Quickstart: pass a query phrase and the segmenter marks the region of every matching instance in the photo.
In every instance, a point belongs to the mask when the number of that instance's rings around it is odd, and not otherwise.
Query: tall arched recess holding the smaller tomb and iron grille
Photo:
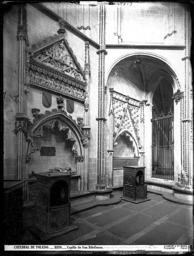
[[[165,87],[171,88],[170,91]],[[159,86],[159,87],[158,87]],[[154,104],[154,101],[157,103],[156,92],[161,93],[161,88],[164,87],[162,91],[163,96],[160,101],[160,107]],[[107,153],[109,154],[109,161],[107,162],[107,175],[108,182],[112,186],[122,185],[122,175],[119,176],[119,173],[112,172],[114,169],[113,159],[116,154],[116,145],[115,142],[115,130],[120,127],[120,121],[123,116],[123,109],[125,110],[125,104],[127,97],[139,102],[136,107],[139,105],[139,110],[136,111],[139,119],[138,125],[135,126],[135,129],[138,134],[137,140],[139,140],[138,151],[139,151],[139,166],[146,166],[145,169],[145,178],[147,180],[153,181],[152,174],[152,122],[153,119],[153,110],[152,106],[155,106],[156,117],[159,117],[160,114],[167,116],[168,112],[171,109],[171,120],[166,119],[166,124],[168,123],[168,128],[174,126],[175,133],[171,129],[171,135],[165,137],[166,140],[171,140],[171,155],[166,155],[166,157],[171,158],[172,169],[170,175],[158,176],[158,179],[161,180],[176,180],[178,172],[180,169],[180,106],[174,104],[173,95],[174,93],[181,88],[180,79],[177,78],[177,73],[175,73],[171,64],[168,63],[165,59],[158,55],[154,55],[148,52],[141,52],[140,54],[130,54],[130,56],[125,56],[119,61],[116,61],[116,64],[111,67],[110,73],[107,78],[107,116],[109,116],[107,124],[109,124],[109,137],[107,137],[107,144],[109,148]],[[155,93],[155,96],[154,96]],[[166,93],[166,94],[165,94]],[[154,96],[154,97],[153,97]],[[114,100],[119,97],[121,101],[121,110],[119,106],[114,106]],[[134,102],[133,102],[134,103]],[[164,108],[165,107],[165,108]],[[117,113],[118,112],[118,113]],[[135,114],[135,115],[136,115]],[[119,119],[118,124],[115,123],[115,119]],[[162,116],[162,117],[164,117]],[[160,116],[161,117],[161,116]],[[170,116],[168,116],[170,117]],[[132,119],[134,118],[134,113],[132,113]],[[162,119],[162,118],[161,118]],[[169,121],[170,120],[170,121]],[[170,133],[170,130],[168,131]],[[166,135],[165,135],[166,136]],[[174,143],[175,142],[175,143]],[[127,140],[126,140],[127,143]],[[127,143],[127,147],[130,145],[130,142]],[[167,144],[168,145],[168,144]],[[167,146],[164,145],[164,146]],[[126,147],[122,148],[126,151]],[[176,157],[173,156],[174,150],[176,151]],[[137,155],[136,155],[137,156]],[[164,159],[166,161],[166,159]],[[169,164],[168,164],[169,165]],[[105,166],[106,167],[106,166]],[[166,171],[167,173],[167,171]],[[120,179],[119,179],[120,177]],[[114,180],[116,180],[114,182]],[[160,183],[160,180],[154,181]],[[163,183],[163,181],[162,181]]]

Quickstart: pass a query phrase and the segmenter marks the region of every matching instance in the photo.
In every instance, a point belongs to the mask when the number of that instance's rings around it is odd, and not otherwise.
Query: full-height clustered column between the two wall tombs
[[[99,44],[98,57],[98,148],[97,148],[97,184],[96,189],[106,189],[104,184],[104,158],[105,158],[105,86],[104,86],[104,58],[105,50],[105,10],[104,5],[99,6]]]

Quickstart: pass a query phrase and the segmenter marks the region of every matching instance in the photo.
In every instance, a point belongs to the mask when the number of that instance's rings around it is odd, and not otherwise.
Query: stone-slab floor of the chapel
[[[173,204],[151,193],[148,198],[151,200],[140,204],[122,200],[72,215],[71,222],[78,230],[44,244],[193,244],[193,207]],[[17,244],[43,243],[26,230]]]

